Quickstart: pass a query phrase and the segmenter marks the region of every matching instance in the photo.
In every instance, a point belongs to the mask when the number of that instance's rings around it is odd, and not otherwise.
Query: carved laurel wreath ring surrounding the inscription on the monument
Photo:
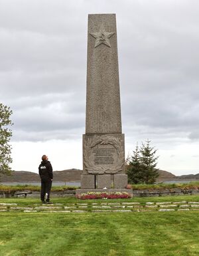
[[[97,144],[107,145],[111,144],[117,151],[117,162],[111,168],[94,165],[94,156],[92,154],[92,148]],[[123,167],[123,156],[124,151],[122,150],[122,141],[120,138],[115,138],[112,136],[94,136],[88,137],[86,143],[84,144],[84,164],[86,166],[85,170],[89,174],[117,174],[117,172],[122,170]]]

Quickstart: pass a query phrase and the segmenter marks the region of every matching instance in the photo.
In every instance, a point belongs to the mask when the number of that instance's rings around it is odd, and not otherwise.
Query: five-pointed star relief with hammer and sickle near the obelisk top
[[[96,33],[90,33],[93,37],[96,39],[95,47],[98,47],[98,45],[104,44],[107,45],[108,47],[111,47],[109,38],[114,35],[115,33],[113,32],[106,32],[103,24],[101,24],[100,31]]]

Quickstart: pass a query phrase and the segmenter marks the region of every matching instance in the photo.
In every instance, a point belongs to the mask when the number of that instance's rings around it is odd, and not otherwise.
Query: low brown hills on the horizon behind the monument
[[[159,178],[157,182],[172,180],[199,180],[199,174],[188,174],[175,176],[170,172],[159,170]],[[63,171],[54,171],[54,182],[80,182],[82,170],[70,169]],[[40,182],[40,177],[34,172],[11,172],[11,176],[0,175],[0,182]]]

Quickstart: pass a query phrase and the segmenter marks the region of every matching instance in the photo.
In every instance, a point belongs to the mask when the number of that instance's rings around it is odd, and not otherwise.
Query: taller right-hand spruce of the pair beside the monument
[[[140,164],[142,166],[143,181],[146,184],[153,184],[159,177],[157,166],[157,159],[159,156],[155,156],[157,150],[150,146],[150,140],[147,140],[146,144],[142,144],[140,152]]]

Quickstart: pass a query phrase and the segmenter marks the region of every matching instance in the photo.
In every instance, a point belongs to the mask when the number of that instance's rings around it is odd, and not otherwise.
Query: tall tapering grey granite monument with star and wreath
[[[81,188],[125,188],[124,164],[115,14],[88,15],[86,134],[83,135]]]

